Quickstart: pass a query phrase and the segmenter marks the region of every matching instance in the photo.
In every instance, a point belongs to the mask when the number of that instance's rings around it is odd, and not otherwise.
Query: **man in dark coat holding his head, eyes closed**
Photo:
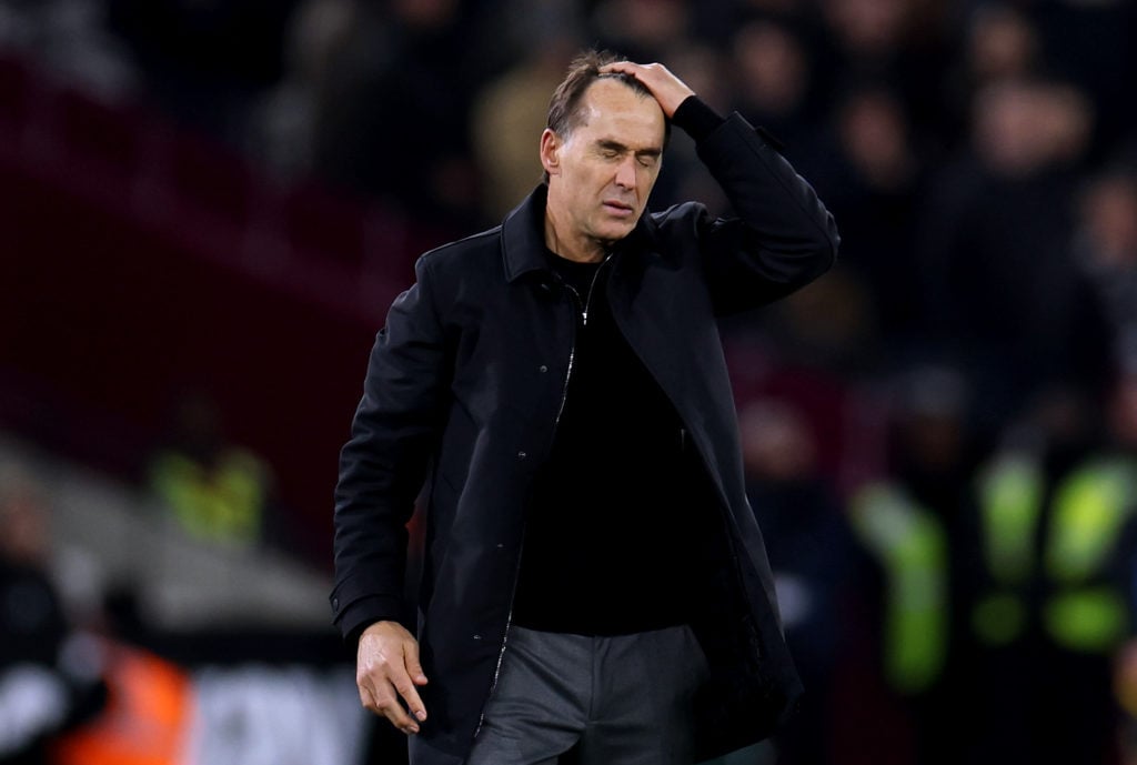
[[[644,215],[672,122],[737,218]],[[658,64],[580,57],[540,158],[500,226],[418,259],[379,333],[340,458],[335,623],[415,765],[694,763],[799,695],[716,318],[823,273],[837,231],[767,141]],[[424,481],[416,641],[399,616]]]

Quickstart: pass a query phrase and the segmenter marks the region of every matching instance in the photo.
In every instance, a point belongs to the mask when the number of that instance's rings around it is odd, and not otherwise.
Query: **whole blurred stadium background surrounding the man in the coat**
[[[1135,42],[1124,0],[0,0],[0,763],[405,762],[330,625],[337,454],[586,45],[766,127],[844,238],[723,325],[812,691],[731,762],[1137,762]],[[652,207],[692,197],[677,135]]]

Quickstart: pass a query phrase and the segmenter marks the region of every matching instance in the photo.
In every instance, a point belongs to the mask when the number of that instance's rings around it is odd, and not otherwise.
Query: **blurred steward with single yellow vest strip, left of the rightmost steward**
[[[963,670],[954,540],[978,451],[970,391],[957,369],[926,363],[901,373],[890,398],[886,473],[847,500],[860,551],[854,655],[870,672],[843,715],[843,754],[954,765]]]

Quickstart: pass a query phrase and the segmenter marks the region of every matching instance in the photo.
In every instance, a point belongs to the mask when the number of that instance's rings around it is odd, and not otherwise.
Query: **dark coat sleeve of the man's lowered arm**
[[[428,257],[391,306],[371,351],[335,487],[334,624],[354,640],[373,622],[404,614],[407,523],[442,419],[447,363],[431,297]]]

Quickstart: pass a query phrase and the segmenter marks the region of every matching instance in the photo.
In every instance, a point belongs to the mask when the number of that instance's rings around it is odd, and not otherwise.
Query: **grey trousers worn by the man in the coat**
[[[707,672],[689,627],[584,637],[511,627],[467,765],[692,765]]]

